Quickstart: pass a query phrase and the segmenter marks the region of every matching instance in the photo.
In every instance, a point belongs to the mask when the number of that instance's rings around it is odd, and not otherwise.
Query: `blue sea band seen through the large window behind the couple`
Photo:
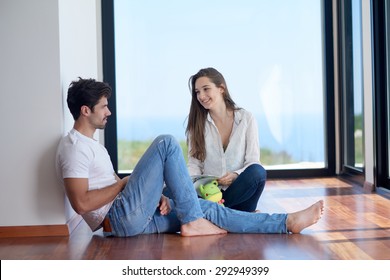
[[[260,148],[287,152],[296,161],[323,162],[325,155],[323,117],[294,115],[283,120],[286,128],[271,129],[264,115],[255,116],[259,127]],[[118,118],[118,140],[150,141],[170,134],[178,141],[185,137],[186,117]]]

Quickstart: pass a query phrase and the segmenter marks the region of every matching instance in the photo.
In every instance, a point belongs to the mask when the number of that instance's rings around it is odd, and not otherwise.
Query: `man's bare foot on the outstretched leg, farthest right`
[[[319,200],[310,207],[288,214],[287,230],[292,233],[300,233],[303,229],[317,223],[324,212],[324,201]]]

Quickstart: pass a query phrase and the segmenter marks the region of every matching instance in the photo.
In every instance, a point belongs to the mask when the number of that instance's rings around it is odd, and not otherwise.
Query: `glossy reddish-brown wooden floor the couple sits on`
[[[292,212],[319,199],[325,213],[301,234],[105,238],[82,222],[69,238],[0,238],[0,259],[389,260],[390,200],[337,178],[270,180],[262,212]]]

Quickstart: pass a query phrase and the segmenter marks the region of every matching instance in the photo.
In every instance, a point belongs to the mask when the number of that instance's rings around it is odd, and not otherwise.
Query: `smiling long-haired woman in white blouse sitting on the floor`
[[[190,175],[215,175],[227,207],[253,212],[263,192],[256,120],[238,108],[224,77],[205,68],[189,79],[192,94],[188,125]]]

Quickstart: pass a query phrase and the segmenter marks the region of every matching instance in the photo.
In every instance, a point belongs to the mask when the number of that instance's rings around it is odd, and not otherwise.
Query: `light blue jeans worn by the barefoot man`
[[[157,208],[164,183],[172,195],[172,211],[165,216]],[[202,217],[228,232],[287,232],[287,214],[242,212],[199,199],[180,145],[169,135],[154,140],[107,216],[114,236],[179,232],[182,224]]]

